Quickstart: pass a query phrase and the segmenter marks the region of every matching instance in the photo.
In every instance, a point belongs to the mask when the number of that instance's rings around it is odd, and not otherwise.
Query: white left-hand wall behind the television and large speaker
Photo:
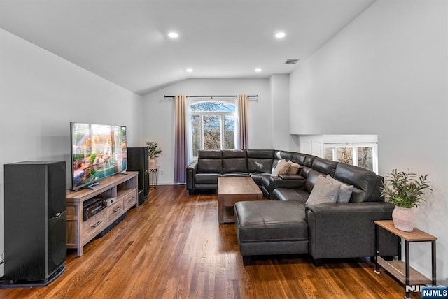
[[[0,29],[0,253],[3,165],[63,160],[70,187],[71,121],[125,125],[141,143],[141,96]]]

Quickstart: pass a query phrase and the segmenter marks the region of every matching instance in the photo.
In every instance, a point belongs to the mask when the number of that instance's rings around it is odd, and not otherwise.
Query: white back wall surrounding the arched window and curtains
[[[276,147],[273,134],[276,135],[276,138],[286,140],[283,143],[284,146],[288,145],[288,138],[291,139],[288,127],[284,129],[283,124],[281,124],[277,128],[273,124],[273,105],[276,101],[279,101],[276,105],[277,112],[288,110],[287,94],[285,95],[282,89],[284,87],[288,92],[287,77],[287,75],[279,76],[275,79],[275,82],[270,82],[269,78],[189,79],[144,96],[144,140],[157,141],[163,151],[158,158],[158,166],[160,167],[158,182],[160,184],[172,184],[174,176],[174,102],[165,100],[165,95],[258,94],[258,101],[249,101],[249,147],[253,149],[272,149]],[[272,86],[279,91],[278,96],[277,92],[272,92]],[[278,117],[278,113],[276,117]]]

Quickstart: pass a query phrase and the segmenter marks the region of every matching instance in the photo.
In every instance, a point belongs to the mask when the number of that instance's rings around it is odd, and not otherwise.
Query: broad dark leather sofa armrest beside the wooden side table
[[[392,219],[393,204],[384,202],[307,205],[309,254],[314,259],[375,256],[374,220]],[[398,255],[398,238],[379,232],[383,256]]]

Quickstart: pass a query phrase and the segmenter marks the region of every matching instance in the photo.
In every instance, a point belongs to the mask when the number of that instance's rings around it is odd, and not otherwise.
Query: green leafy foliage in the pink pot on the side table
[[[380,188],[381,194],[386,197],[389,203],[398,207],[418,207],[421,201],[425,201],[423,196],[426,190],[430,189],[428,175],[417,177],[415,173],[392,170],[387,176],[386,182]]]

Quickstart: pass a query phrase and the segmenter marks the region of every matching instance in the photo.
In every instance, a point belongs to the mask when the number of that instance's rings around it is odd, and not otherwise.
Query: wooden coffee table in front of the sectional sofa
[[[218,177],[218,220],[235,222],[233,205],[238,201],[262,200],[263,194],[251,177]]]

